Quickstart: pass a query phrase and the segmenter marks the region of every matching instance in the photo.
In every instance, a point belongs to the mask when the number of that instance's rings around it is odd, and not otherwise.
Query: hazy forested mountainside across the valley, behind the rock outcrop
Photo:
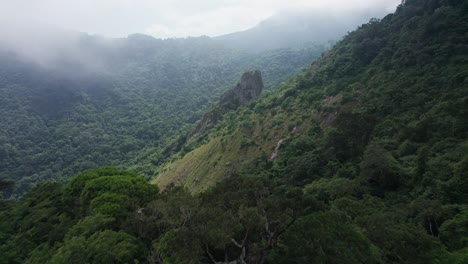
[[[209,38],[143,35],[84,35],[73,45],[83,62],[74,62],[77,52],[67,49],[62,61],[45,67],[0,53],[0,179],[16,181],[16,194],[104,165],[152,177],[170,154],[165,147],[183,138],[245,70],[262,69],[272,87],[325,49],[252,55]]]

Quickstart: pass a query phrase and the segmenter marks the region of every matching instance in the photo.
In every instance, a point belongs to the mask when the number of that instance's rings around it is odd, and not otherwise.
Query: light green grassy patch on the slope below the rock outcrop
[[[257,104],[279,101],[294,85],[295,79],[283,83],[276,91],[263,94]],[[311,119],[318,117],[311,109],[297,116],[304,109],[295,105],[288,105],[287,109],[269,106],[268,111],[253,108],[255,103],[228,113],[209,135],[195,135],[188,145],[206,143],[165,164],[153,182],[162,188],[170,183],[183,184],[193,192],[201,192],[247,167],[245,163],[251,160],[270,159],[280,140],[307,131]]]

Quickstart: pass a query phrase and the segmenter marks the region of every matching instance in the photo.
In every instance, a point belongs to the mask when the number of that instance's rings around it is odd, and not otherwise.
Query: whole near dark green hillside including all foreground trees
[[[1,261],[467,263],[466,32],[468,2],[407,0],[181,140],[162,192],[103,168],[3,201]]]

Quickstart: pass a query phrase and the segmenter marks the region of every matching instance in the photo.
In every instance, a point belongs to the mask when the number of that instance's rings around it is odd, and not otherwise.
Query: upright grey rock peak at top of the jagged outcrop
[[[221,96],[219,105],[224,111],[233,110],[257,98],[262,93],[263,88],[262,73],[260,71],[245,72],[236,87]]]

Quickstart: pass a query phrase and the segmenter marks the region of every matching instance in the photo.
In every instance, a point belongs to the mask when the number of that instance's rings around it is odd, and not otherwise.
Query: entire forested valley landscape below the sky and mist
[[[467,21],[405,0],[333,45],[2,53],[0,263],[467,263]]]

